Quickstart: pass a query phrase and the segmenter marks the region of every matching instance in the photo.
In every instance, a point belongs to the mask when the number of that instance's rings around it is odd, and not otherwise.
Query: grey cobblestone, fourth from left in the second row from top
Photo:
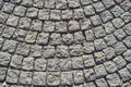
[[[41,21],[49,20],[49,9],[38,10],[38,18]]]

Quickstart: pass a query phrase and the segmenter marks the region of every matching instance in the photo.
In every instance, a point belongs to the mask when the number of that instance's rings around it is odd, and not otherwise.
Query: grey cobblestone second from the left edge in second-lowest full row
[[[10,65],[12,66],[12,67],[15,67],[15,69],[21,69],[21,66],[22,66],[22,61],[23,61],[23,57],[22,55],[16,55],[16,54],[14,54],[13,57],[12,57],[12,59],[11,59],[11,63],[10,63]]]

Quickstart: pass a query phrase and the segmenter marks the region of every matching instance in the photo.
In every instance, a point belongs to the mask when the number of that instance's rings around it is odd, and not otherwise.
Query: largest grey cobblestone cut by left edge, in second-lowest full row
[[[0,65],[8,66],[11,60],[11,54],[7,52],[0,52]]]

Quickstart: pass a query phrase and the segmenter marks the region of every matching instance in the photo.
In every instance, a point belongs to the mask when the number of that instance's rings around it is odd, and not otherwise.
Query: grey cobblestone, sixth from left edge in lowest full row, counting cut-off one
[[[61,72],[61,85],[72,85],[72,73],[71,72]]]

